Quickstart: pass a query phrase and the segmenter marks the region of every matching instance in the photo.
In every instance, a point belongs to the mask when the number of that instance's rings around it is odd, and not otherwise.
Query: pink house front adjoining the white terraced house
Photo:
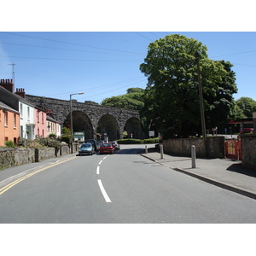
[[[47,137],[46,111],[41,108],[34,108],[34,122],[36,137]]]

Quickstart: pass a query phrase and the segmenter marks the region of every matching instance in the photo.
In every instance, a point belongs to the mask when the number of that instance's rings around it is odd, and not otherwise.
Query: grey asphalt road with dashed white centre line
[[[0,223],[255,223],[256,201],[160,166],[144,146],[76,156],[0,194]]]

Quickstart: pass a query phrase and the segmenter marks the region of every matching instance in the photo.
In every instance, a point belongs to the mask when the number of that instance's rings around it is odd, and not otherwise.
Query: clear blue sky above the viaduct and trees
[[[26,94],[102,102],[131,87],[145,88],[139,70],[148,44],[179,33],[205,44],[212,60],[230,61],[238,93],[256,100],[256,32],[0,32],[0,78]]]

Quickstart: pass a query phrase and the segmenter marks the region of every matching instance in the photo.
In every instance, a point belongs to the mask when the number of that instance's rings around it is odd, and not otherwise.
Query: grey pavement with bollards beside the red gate
[[[192,168],[190,157],[163,154],[161,158],[157,152],[141,155],[177,172],[256,199],[256,170],[241,166],[241,160],[197,158]]]

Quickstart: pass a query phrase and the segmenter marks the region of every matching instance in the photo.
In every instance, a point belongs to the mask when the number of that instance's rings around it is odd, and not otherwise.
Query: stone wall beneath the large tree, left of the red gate
[[[164,153],[166,154],[191,156],[193,145],[198,157],[224,157],[224,137],[207,137],[207,152],[204,148],[203,138],[179,138],[163,141]]]

